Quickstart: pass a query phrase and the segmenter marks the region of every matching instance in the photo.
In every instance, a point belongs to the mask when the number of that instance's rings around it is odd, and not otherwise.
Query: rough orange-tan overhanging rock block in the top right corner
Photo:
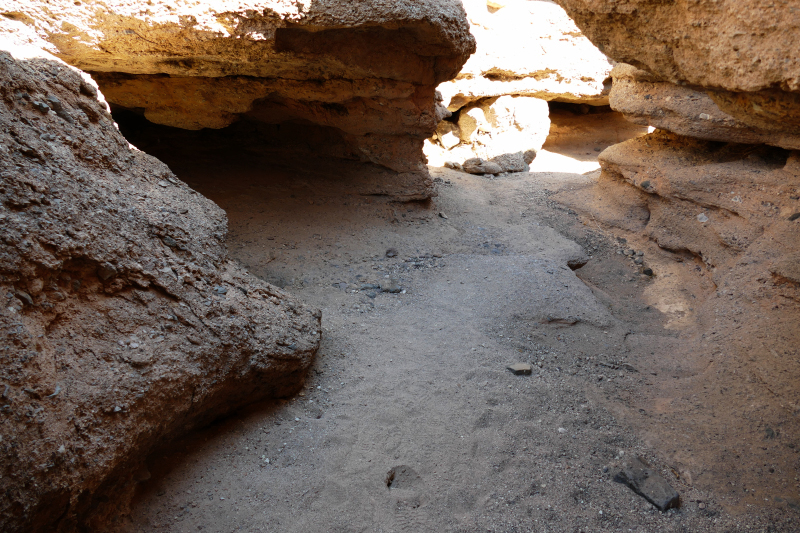
[[[744,124],[800,134],[800,9],[765,0],[557,0],[609,57],[704,89]]]

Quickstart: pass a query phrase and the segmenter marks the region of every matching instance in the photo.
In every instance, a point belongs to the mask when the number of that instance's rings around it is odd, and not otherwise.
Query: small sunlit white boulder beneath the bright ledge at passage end
[[[517,153],[528,154],[526,162],[530,163],[547,139],[549,113],[547,102],[539,98],[501,96],[480,100],[442,121],[433,139],[426,143],[425,153],[432,164],[475,157],[511,157]]]

